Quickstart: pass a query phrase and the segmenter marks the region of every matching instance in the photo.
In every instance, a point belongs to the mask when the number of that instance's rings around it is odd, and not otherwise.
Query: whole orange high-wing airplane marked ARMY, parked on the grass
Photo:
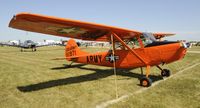
[[[150,67],[158,67],[163,77],[170,76],[170,70],[162,69],[159,65],[182,59],[187,48],[183,42],[158,41],[174,35],[170,33],[145,33],[30,13],[15,15],[9,27],[88,41],[111,42],[111,50],[90,54],[80,50],[76,42],[70,39],[65,47],[65,59],[114,68],[146,67],[146,74],[140,79],[140,85],[144,87],[152,84]]]

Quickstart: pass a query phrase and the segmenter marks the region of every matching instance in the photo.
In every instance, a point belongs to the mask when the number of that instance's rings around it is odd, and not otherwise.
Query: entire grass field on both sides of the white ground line
[[[64,57],[64,47],[42,47],[37,52],[0,47],[0,57],[0,108],[94,108],[115,99],[112,68],[83,64],[65,68],[63,64],[70,62],[51,60]],[[175,74],[199,61],[200,54],[188,53],[183,60],[164,67]],[[197,66],[109,107],[200,107],[199,70]],[[119,96],[143,88],[138,85],[139,69],[117,70],[117,73]],[[155,82],[162,80],[157,68],[151,69],[150,77]]]

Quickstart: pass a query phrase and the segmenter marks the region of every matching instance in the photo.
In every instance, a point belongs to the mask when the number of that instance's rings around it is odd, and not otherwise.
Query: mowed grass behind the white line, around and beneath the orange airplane
[[[107,48],[82,48],[88,52],[105,51]],[[112,68],[69,64],[64,57],[64,47],[41,47],[38,51],[20,52],[19,48],[0,47],[0,107],[7,108],[92,108],[115,98]],[[195,54],[188,54],[182,61],[165,65],[173,73],[197,62]],[[117,70],[119,96],[141,89],[138,86],[140,69]],[[151,78],[162,80],[157,68],[151,69]]]

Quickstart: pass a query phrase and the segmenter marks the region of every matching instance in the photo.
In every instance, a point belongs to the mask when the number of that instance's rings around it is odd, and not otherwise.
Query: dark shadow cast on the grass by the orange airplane
[[[104,70],[104,69],[81,67],[83,65],[84,64],[78,64],[73,67],[84,69],[84,70],[92,70],[95,72],[91,73],[91,74],[87,74],[87,75],[50,80],[50,81],[40,82],[37,84],[31,84],[31,85],[27,85],[27,86],[18,86],[17,89],[20,90],[21,92],[38,91],[38,90],[47,89],[47,88],[56,87],[56,86],[98,80],[98,79],[106,78],[108,76],[113,75],[113,69],[105,69]],[[66,69],[66,68],[68,68],[68,67],[64,66],[64,67],[56,67],[56,68],[52,68],[52,69],[55,70],[55,69]],[[117,70],[117,75],[128,76],[130,78],[138,78],[138,79],[142,77],[141,74],[132,73],[132,72],[130,72],[129,69],[124,69],[123,71],[120,71],[120,70],[121,69]],[[126,72],[124,72],[124,71],[126,71]],[[155,75],[149,75],[149,77],[153,80],[153,82],[163,79],[161,76],[155,76]]]

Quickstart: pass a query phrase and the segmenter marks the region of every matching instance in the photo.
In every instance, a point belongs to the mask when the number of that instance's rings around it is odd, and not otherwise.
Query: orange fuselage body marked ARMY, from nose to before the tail
[[[183,48],[179,42],[152,47],[137,48],[134,49],[134,51],[151,66],[179,60],[186,54],[186,48]],[[146,66],[146,64],[144,64],[129,50],[115,50],[115,55],[112,55],[112,52],[108,51],[87,54],[73,59],[73,61],[78,63],[94,64],[108,67],[113,67],[114,60],[116,61],[115,63],[117,68],[136,68]]]

